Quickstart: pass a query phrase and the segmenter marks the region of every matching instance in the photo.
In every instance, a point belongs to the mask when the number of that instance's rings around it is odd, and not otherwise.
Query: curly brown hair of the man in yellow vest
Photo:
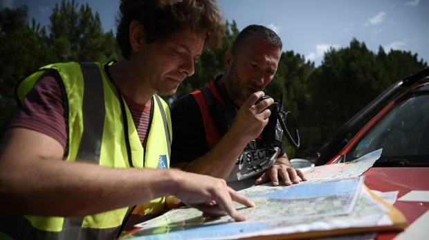
[[[182,30],[206,34],[204,49],[221,46],[225,22],[216,0],[122,0],[116,41],[125,59],[131,55],[129,25],[144,26],[145,41],[168,39]]]

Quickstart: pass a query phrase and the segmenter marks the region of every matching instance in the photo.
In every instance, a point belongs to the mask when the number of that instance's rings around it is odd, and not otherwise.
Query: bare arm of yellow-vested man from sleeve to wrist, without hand
[[[60,143],[33,130],[6,133],[0,155],[0,212],[78,216],[169,195],[170,172],[116,169],[62,159]],[[151,188],[156,186],[156,188]]]

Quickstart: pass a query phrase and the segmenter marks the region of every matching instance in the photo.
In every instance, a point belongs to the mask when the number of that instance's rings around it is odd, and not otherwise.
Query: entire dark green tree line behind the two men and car
[[[74,0],[55,5],[51,25],[39,26],[28,19],[28,8],[0,10],[0,127],[17,111],[14,87],[19,79],[48,63],[59,61],[108,61],[118,59],[113,32],[103,32],[98,12],[88,3]],[[203,52],[195,73],[183,81],[174,96],[162,96],[170,105],[183,94],[205,86],[215,74],[223,73],[224,53],[239,33],[235,21],[226,22],[222,47]],[[285,141],[289,158],[316,159],[316,151],[344,123],[375,99],[392,83],[427,68],[417,54],[401,50],[368,50],[352,39],[349,46],[330,49],[320,66],[293,51],[282,52],[277,73],[265,92],[293,112],[300,126],[301,148]],[[0,132],[2,135],[2,131]],[[286,138],[285,138],[286,140]]]

